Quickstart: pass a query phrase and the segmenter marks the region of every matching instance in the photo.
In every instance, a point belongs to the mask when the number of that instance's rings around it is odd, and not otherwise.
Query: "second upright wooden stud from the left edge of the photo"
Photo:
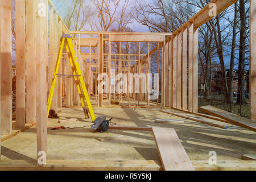
[[[25,45],[25,0],[15,0],[16,38],[16,128],[22,129],[26,123],[26,45]]]

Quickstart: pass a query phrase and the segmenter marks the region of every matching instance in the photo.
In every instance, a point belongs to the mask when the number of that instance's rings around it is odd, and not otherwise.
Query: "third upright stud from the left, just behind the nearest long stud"
[[[26,61],[27,61],[27,97],[26,123],[36,122],[36,64],[35,64],[35,1],[26,1]]]

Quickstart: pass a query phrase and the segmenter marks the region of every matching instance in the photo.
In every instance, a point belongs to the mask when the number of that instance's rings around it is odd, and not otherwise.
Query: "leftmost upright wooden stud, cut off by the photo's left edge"
[[[10,134],[12,127],[12,41],[11,41],[11,1],[0,1],[1,17],[1,134]]]

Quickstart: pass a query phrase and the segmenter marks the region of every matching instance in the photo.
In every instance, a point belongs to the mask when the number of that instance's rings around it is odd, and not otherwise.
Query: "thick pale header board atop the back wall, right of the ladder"
[[[111,42],[164,42],[164,35],[110,35]]]

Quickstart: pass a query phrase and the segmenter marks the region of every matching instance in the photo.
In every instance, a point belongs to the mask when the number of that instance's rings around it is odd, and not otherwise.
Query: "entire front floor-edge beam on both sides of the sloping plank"
[[[225,160],[210,165],[208,160],[192,160],[196,171],[254,171],[255,161]],[[24,160],[0,160],[0,171],[163,171],[156,160],[48,160],[46,166]]]

